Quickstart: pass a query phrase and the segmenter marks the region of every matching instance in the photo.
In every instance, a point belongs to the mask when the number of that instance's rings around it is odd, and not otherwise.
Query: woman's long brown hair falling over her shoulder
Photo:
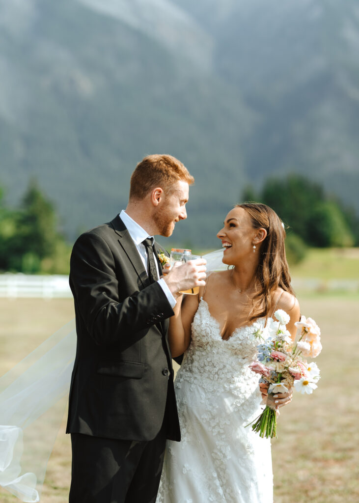
[[[249,214],[254,229],[263,228],[267,231],[259,248],[259,265],[255,280],[260,285],[260,291],[253,298],[253,307],[249,314],[251,321],[268,316],[272,294],[278,287],[294,295],[284,245],[286,231],[277,213],[265,204],[243,203],[237,204],[236,208],[243,208]]]

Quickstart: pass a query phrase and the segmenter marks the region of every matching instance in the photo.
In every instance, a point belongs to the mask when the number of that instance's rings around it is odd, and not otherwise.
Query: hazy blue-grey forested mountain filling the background
[[[0,0],[0,184],[73,240],[144,155],[195,176],[173,242],[216,247],[248,183],[297,172],[359,211],[355,0]]]

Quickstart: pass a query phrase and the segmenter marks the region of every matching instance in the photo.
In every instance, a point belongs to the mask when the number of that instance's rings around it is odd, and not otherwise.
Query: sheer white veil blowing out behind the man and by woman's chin
[[[207,272],[227,269],[223,249],[203,258]],[[40,501],[68,398],[75,351],[73,319],[0,378],[0,485],[21,501]]]

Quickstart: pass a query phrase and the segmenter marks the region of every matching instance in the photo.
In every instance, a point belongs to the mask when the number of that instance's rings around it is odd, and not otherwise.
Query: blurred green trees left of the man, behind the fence
[[[6,206],[0,188],[0,271],[66,274],[69,254],[54,206],[35,181],[18,208]]]

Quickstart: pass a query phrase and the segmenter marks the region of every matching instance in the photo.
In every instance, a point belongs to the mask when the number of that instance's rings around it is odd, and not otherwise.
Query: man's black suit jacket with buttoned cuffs
[[[149,283],[119,216],[80,235],[69,281],[77,349],[66,432],[152,440],[167,397],[167,438],[180,440],[167,339],[173,310],[161,287]]]

